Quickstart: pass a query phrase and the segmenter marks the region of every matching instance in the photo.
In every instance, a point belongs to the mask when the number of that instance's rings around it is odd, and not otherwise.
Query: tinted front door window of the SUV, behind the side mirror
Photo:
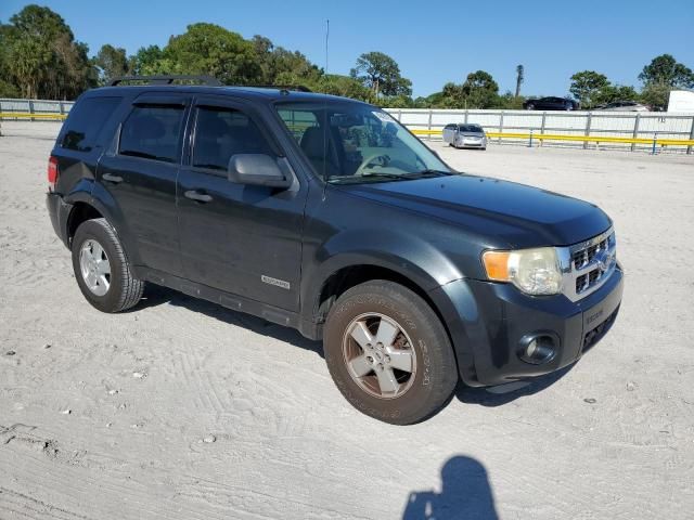
[[[267,140],[245,114],[226,108],[198,108],[193,166],[227,171],[236,154],[274,155]]]

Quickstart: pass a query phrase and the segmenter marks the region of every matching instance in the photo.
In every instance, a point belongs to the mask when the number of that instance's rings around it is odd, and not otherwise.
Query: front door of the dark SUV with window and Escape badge
[[[265,128],[248,104],[196,100],[178,182],[181,256],[191,281],[296,311],[306,180],[280,191],[227,176],[232,155],[283,155]]]

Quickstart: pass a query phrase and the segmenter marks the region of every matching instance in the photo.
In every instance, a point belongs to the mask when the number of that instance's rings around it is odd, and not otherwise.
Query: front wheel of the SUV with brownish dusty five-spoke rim
[[[393,425],[433,416],[458,382],[453,349],[438,316],[416,294],[388,281],[367,282],[337,299],[323,350],[345,399]]]

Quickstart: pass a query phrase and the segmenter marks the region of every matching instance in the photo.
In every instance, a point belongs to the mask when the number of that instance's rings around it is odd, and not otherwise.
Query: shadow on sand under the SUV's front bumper
[[[575,365],[576,363],[573,363],[544,376],[535,377],[526,381],[509,382],[498,387],[472,388],[459,382],[455,388],[455,396],[459,401],[467,404],[480,404],[489,407],[502,406],[516,399],[532,395],[551,387],[568,374]]]

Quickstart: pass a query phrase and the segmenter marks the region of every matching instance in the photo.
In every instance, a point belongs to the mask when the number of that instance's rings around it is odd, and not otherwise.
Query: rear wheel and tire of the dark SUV
[[[106,219],[80,224],[72,249],[75,278],[94,308],[120,312],[140,301],[144,282],[132,276],[118,236]]]

